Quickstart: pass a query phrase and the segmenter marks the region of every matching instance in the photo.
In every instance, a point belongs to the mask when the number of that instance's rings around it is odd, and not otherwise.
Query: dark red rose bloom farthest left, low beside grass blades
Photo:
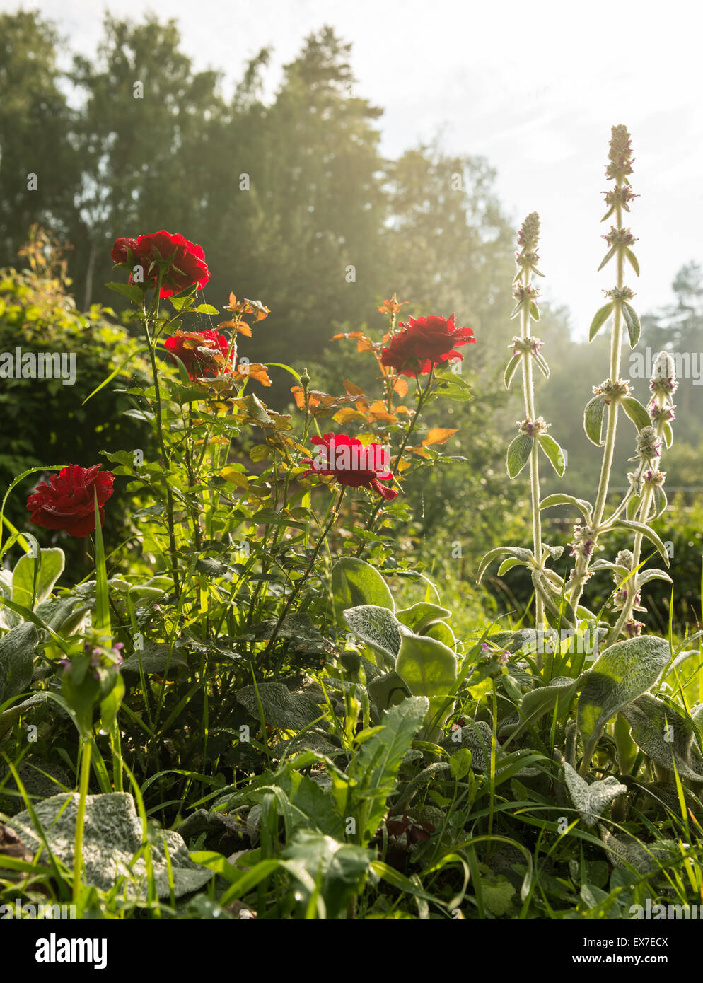
[[[95,503],[93,489],[97,492],[100,525],[105,521],[104,504],[112,494],[113,475],[101,471],[101,465],[82,468],[69,464],[56,475],[51,475],[48,485],[41,482],[27,499],[31,521],[44,529],[64,529],[70,536],[89,536],[95,531]]]

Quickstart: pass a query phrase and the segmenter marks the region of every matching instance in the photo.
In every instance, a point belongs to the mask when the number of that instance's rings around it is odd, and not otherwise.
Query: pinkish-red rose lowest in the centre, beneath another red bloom
[[[322,434],[311,437],[317,445],[315,458],[307,457],[303,464],[311,468],[300,477],[308,475],[334,475],[340,485],[349,488],[365,488],[379,492],[390,501],[398,492],[384,488],[381,481],[392,479],[385,459],[385,451],[380,443],[368,443],[366,446],[356,437],[347,434]]]

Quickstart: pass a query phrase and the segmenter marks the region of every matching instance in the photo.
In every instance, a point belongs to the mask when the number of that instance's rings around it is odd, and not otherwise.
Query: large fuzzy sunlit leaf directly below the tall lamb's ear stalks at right
[[[578,728],[587,756],[606,723],[654,685],[670,657],[669,643],[651,635],[617,642],[599,656],[585,674],[578,699]]]

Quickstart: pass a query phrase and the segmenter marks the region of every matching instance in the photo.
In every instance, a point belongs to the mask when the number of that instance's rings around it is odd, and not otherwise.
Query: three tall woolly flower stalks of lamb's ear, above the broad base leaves
[[[533,212],[525,219],[518,234],[518,244],[522,249],[517,254],[518,272],[514,283],[514,296],[517,303],[513,310],[513,317],[520,315],[521,331],[520,336],[513,337],[511,341],[513,355],[505,370],[505,384],[509,386],[518,367],[522,365],[526,419],[519,425],[520,432],[508,447],[507,471],[510,478],[515,478],[529,462],[533,510],[532,550],[522,547],[493,549],[484,556],[478,573],[480,580],[489,563],[501,555],[507,558],[503,560],[498,575],[515,565],[527,566],[531,570],[535,587],[535,625],[538,632],[543,629],[545,619],[553,626],[565,626],[568,629],[576,629],[586,619],[592,624],[596,637],[600,637],[604,630],[600,628],[599,631],[600,619],[588,607],[582,606],[581,599],[584,587],[595,570],[612,569],[617,577],[616,600],[620,602],[620,614],[610,631],[609,644],[617,641],[620,635],[631,636],[641,628],[639,622],[631,617],[633,609],[641,609],[637,607],[639,586],[654,577],[668,577],[664,571],[648,571],[639,579],[637,573],[633,573],[634,567],[640,563],[643,539],[647,538],[660,551],[665,562],[669,563],[664,544],[649,523],[661,515],[666,507],[666,497],[662,490],[664,475],[659,471],[657,462],[663,441],[666,440],[667,444],[670,444],[672,439],[671,395],[675,388],[672,360],[664,353],[657,360],[649,409],[632,396],[631,386],[619,375],[623,327],[627,329],[631,347],[637,344],[640,334],[640,321],[630,303],[634,294],[624,282],[626,265],[639,274],[639,265],[632,252],[635,238],[630,229],[622,225],[623,212],[629,211],[629,204],[636,197],[628,183],[631,173],[630,136],[625,127],[616,126],[613,128],[609,163],[606,168],[606,175],[610,181],[615,182],[615,187],[605,192],[608,210],[603,217],[605,221],[615,216],[615,225],[604,236],[609,249],[599,267],[602,269],[611,260],[615,260],[615,286],[606,291],[607,303],[596,312],[590,330],[590,340],[593,340],[610,319],[613,321],[610,376],[594,386],[593,398],[589,400],[584,411],[586,436],[593,443],[603,447],[595,502],[565,493],[552,494],[540,500],[538,447],[542,447],[559,475],[563,474],[564,461],[557,442],[546,433],[550,425],[546,424],[542,417],[535,415],[533,363],[548,377],[549,368],[540,353],[540,339],[532,336],[530,331],[531,319],[539,318],[536,304],[537,290],[532,286],[531,276],[533,273],[542,275],[536,268],[539,218]],[[639,467],[628,476],[630,488],[623,500],[610,516],[606,516],[620,406],[637,432],[636,459],[639,461]],[[540,513],[546,508],[557,505],[569,505],[581,515],[581,520],[574,527],[573,540],[570,543],[570,555],[574,557],[573,568],[565,580],[547,567],[549,559],[557,559],[562,548],[545,546],[542,542]],[[633,562],[633,565],[625,567],[622,562],[613,564],[604,560],[594,561],[596,551],[602,549],[600,541],[603,535],[616,529],[628,529],[635,535],[632,560],[634,561],[636,557],[636,562]],[[630,584],[631,590],[628,596],[624,581],[626,579],[629,583],[631,578],[634,579],[634,583]],[[541,665],[539,654],[538,665]]]

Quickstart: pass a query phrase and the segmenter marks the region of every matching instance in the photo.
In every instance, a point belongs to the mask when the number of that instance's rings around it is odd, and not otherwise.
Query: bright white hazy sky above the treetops
[[[517,225],[528,211],[543,224],[546,298],[567,304],[581,336],[614,271],[606,252],[600,192],[611,126],[633,137],[629,216],[639,238],[640,313],[667,304],[679,266],[703,262],[701,28],[696,0],[0,0],[38,8],[70,46],[94,51],[102,12],[153,11],[181,24],[198,68],[230,82],[271,46],[268,91],[314,29],[330,24],[351,41],[358,94],[380,105],[382,149],[396,154],[441,132],[447,149],[485,155]]]

